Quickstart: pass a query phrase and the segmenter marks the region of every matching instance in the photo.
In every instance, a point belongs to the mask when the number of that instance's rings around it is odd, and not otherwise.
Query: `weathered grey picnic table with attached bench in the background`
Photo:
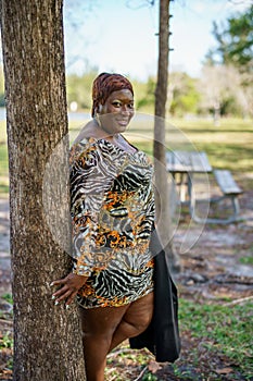
[[[238,186],[230,171],[214,170],[205,152],[198,151],[167,151],[166,169],[174,177],[174,184],[179,188],[179,199],[181,204],[189,206],[190,216],[197,222],[223,223],[242,220],[238,196],[242,189]],[[198,197],[193,192],[193,179],[197,173],[213,174],[223,194],[219,197],[208,198],[208,202],[219,202],[229,199],[232,213],[227,218],[201,218],[197,216],[195,202]]]

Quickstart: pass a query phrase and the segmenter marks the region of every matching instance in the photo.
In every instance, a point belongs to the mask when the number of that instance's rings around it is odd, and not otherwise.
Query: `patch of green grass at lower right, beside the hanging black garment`
[[[198,305],[180,299],[180,331],[190,332],[208,351],[226,355],[246,380],[253,377],[253,303]]]

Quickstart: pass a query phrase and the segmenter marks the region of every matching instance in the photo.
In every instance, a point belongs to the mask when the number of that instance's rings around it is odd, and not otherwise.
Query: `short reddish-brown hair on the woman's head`
[[[92,87],[92,109],[91,115],[96,116],[99,105],[104,105],[105,100],[113,91],[128,89],[134,95],[131,83],[122,74],[101,73],[93,81]]]

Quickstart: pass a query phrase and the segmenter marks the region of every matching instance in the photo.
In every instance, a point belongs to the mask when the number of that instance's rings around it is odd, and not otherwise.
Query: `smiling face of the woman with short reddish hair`
[[[99,114],[102,128],[109,134],[123,133],[135,114],[134,96],[130,90],[113,91]]]

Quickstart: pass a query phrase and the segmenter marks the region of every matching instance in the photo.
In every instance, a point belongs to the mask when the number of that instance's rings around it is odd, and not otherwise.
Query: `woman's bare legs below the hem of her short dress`
[[[143,332],[153,315],[153,293],[123,307],[80,308],[87,381],[103,381],[106,355]]]

